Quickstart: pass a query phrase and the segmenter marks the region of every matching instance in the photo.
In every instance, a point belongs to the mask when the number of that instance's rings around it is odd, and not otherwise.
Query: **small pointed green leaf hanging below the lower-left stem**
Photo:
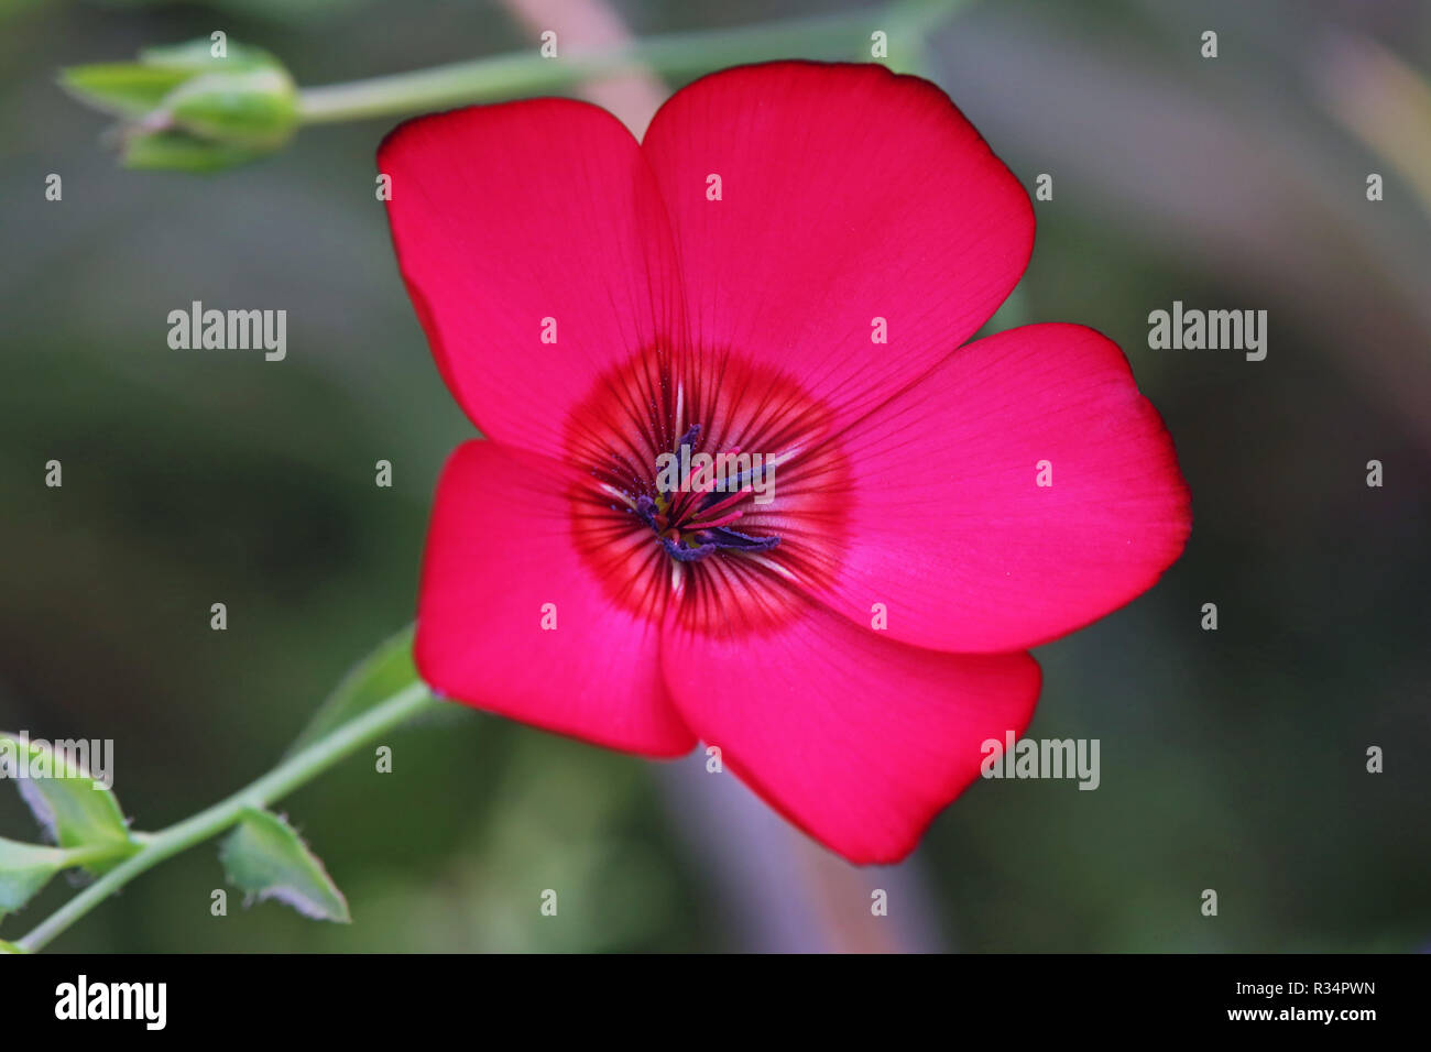
[[[348,900],[323,863],[280,816],[249,807],[219,847],[232,883],[258,902],[278,899],[315,920],[348,923]]]

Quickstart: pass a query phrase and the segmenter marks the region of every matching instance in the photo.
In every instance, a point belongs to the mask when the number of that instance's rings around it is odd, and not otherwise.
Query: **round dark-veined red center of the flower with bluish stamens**
[[[622,605],[754,630],[827,584],[844,550],[844,455],[831,414],[733,354],[637,354],[568,421],[578,551]]]

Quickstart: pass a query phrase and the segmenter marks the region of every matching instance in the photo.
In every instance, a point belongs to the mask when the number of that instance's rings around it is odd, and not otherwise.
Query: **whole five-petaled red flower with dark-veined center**
[[[648,756],[700,739],[821,843],[893,862],[1027,726],[1025,648],[1182,551],[1172,442],[1116,345],[960,348],[1033,212],[930,83],[750,66],[640,143],[541,99],[409,122],[378,157],[489,437],[448,462],[422,571],[416,661],[446,696]],[[677,488],[683,444],[776,468]]]

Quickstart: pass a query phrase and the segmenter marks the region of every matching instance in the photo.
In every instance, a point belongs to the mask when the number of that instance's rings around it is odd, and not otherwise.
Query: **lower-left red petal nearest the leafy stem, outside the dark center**
[[[661,684],[658,625],[612,603],[581,561],[561,472],[495,442],[452,454],[422,564],[418,670],[441,694],[522,723],[631,753],[690,751]],[[555,628],[542,627],[550,615]]]

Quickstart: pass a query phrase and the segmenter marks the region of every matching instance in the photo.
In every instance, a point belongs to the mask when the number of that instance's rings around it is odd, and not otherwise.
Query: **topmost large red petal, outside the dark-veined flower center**
[[[949,355],[1033,248],[1013,173],[943,92],[881,66],[713,73],[661,107],[643,149],[693,346],[784,366],[833,408],[873,408]]]

